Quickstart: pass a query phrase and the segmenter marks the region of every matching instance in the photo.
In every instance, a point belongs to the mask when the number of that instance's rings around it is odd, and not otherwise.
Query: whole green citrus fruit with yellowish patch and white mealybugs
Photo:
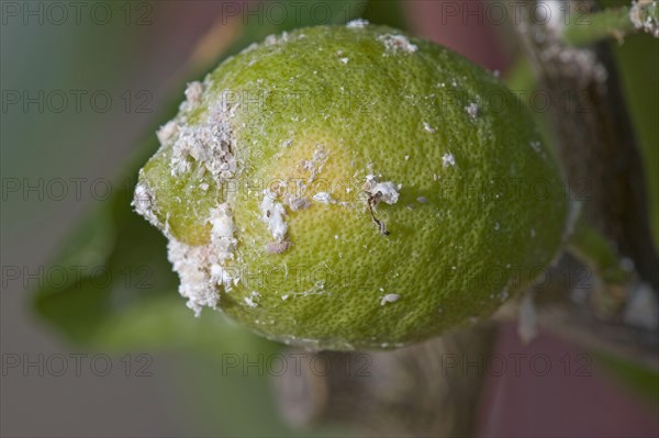
[[[394,348],[489,316],[560,248],[567,200],[539,134],[444,47],[301,29],[187,97],[134,205],[196,312],[308,348]]]

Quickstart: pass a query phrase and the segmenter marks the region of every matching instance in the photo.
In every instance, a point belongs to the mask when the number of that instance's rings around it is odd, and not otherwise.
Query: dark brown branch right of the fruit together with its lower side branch
[[[589,13],[595,14],[593,1],[560,4],[561,11],[588,8]],[[526,2],[526,10],[532,5]],[[576,244],[597,246],[602,242],[592,237],[603,236],[608,242],[604,245],[606,255],[600,261],[615,266],[612,252],[618,260],[628,259],[635,271],[633,277],[650,284],[657,293],[659,259],[649,226],[644,170],[611,50],[605,43],[581,48],[568,46],[556,23],[534,22],[533,14],[528,15],[517,23],[517,32],[539,86],[551,102],[562,102],[570,96],[578,103],[576,108],[556,104],[549,110],[568,184],[573,190],[584,184],[589,188],[582,200],[583,220],[595,233],[579,236],[582,242],[577,239]],[[606,279],[601,270],[599,273]],[[617,270],[613,277],[619,273]],[[637,284],[615,283],[594,284],[580,303],[572,302],[571,285],[554,292],[541,291],[538,296],[551,296],[555,303],[545,315],[545,310],[540,310],[540,322],[569,326],[563,335],[573,340],[588,340],[591,347],[613,350],[657,369],[656,329],[633,328],[621,316]],[[561,315],[557,316],[557,312]]]

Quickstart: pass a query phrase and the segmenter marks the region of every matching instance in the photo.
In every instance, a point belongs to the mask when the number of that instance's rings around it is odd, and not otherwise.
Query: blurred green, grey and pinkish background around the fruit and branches
[[[355,434],[290,426],[268,362],[281,347],[219,315],[192,317],[164,238],[127,209],[136,169],[187,81],[252,42],[304,25],[360,16],[389,24],[533,90],[512,26],[484,4],[2,1],[2,436]],[[637,35],[614,49],[656,200],[659,45]],[[657,216],[654,202],[655,236]],[[544,355],[552,372],[526,363],[521,373],[487,375],[479,436],[659,434],[656,374],[546,334],[524,346],[512,326],[493,348]]]

